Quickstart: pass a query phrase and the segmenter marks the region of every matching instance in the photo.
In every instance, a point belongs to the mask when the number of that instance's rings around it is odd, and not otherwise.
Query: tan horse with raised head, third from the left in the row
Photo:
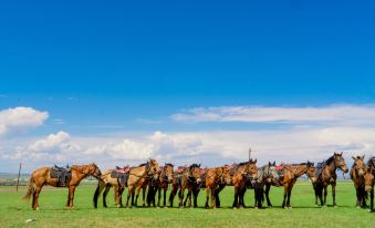
[[[132,206],[136,206],[134,201],[135,189],[143,183],[144,178],[157,178],[160,172],[159,165],[155,159],[149,159],[147,163],[140,164],[137,167],[132,167],[129,178],[127,180],[127,199],[126,207],[129,205],[132,197]],[[142,185],[140,185],[142,186]],[[139,195],[139,191],[138,191]]]

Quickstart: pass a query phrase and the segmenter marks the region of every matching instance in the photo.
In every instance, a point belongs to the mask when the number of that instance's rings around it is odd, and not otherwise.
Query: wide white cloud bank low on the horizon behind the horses
[[[176,165],[202,163],[215,166],[246,160],[248,148],[259,164],[277,162],[320,162],[333,152],[352,155],[375,151],[375,128],[324,127],[280,131],[155,132],[134,138],[71,137],[65,132],[51,134],[25,146],[1,148],[3,160],[23,159],[29,167],[95,162],[101,167],[139,164],[154,157]]]

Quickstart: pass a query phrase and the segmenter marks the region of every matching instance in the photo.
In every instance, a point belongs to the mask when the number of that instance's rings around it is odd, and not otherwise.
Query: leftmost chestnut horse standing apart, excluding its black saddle
[[[71,177],[66,182],[66,186],[69,188],[67,203],[66,207],[73,208],[74,200],[74,191],[75,188],[80,185],[81,180],[88,177],[94,176],[97,179],[101,179],[102,173],[101,169],[96,166],[96,164],[90,165],[73,165],[71,166]],[[39,195],[44,185],[50,185],[53,187],[59,187],[59,179],[51,178],[51,168],[42,167],[35,169],[29,179],[28,193],[24,195],[24,199],[28,199],[32,196],[32,209],[39,209]]]

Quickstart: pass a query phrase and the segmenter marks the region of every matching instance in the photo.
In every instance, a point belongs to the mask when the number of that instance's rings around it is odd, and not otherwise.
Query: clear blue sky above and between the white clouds
[[[1,2],[0,110],[49,113],[22,137],[288,128],[171,116],[373,104],[374,11],[373,1]]]

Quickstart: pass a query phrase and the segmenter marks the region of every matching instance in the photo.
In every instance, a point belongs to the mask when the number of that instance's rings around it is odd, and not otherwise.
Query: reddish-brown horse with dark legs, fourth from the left
[[[174,179],[174,165],[170,163],[166,163],[163,167],[160,167],[159,178],[148,184],[148,191],[147,191],[147,205],[148,206],[153,204],[155,207],[155,195],[156,193],[158,193],[157,207],[160,207],[160,198],[162,198],[162,190],[163,190],[164,191],[163,207],[166,207],[167,190],[173,179]]]

